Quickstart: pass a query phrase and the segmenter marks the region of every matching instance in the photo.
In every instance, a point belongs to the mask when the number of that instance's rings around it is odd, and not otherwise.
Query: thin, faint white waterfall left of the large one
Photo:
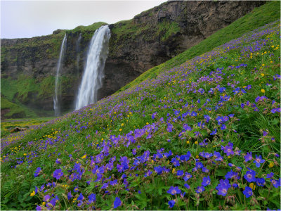
[[[53,97],[53,109],[55,110],[55,117],[60,115],[60,95],[61,95],[61,87],[60,87],[60,68],[63,62],[63,56],[65,54],[66,49],[66,42],[67,42],[67,34],[63,37],[63,42],[60,46],[60,57],[58,58],[57,64],[57,72],[55,75],[55,96]]]

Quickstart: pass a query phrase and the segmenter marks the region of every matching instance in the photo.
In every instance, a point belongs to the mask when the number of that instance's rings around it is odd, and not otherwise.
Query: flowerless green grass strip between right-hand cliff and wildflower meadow
[[[159,72],[181,65],[187,59],[200,56],[202,53],[211,51],[211,49],[214,49],[227,41],[241,37],[242,34],[254,30],[256,27],[261,27],[266,23],[278,19],[280,19],[280,1],[269,1],[267,4],[260,6],[259,8],[254,8],[251,13],[244,15],[227,27],[218,30],[218,32],[201,41],[200,44],[192,46],[190,49],[180,53],[171,60],[147,70],[135,80],[119,89],[119,91],[124,91],[129,87],[133,87],[136,84],[143,82],[145,79],[155,78]]]

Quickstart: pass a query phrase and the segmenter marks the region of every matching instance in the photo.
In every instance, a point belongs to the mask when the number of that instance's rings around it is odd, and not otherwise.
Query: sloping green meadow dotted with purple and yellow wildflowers
[[[280,209],[280,22],[1,145],[2,210]]]

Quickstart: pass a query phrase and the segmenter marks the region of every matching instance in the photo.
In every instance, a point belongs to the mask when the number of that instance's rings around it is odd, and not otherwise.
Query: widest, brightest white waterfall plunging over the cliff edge
[[[107,58],[109,39],[110,29],[107,25],[98,28],[93,34],[75,110],[95,103],[98,99],[98,89],[103,85],[103,69]]]

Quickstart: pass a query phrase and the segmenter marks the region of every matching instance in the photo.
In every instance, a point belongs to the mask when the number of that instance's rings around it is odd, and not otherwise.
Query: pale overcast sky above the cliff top
[[[28,38],[103,21],[116,23],[165,1],[2,1],[1,38]]]

